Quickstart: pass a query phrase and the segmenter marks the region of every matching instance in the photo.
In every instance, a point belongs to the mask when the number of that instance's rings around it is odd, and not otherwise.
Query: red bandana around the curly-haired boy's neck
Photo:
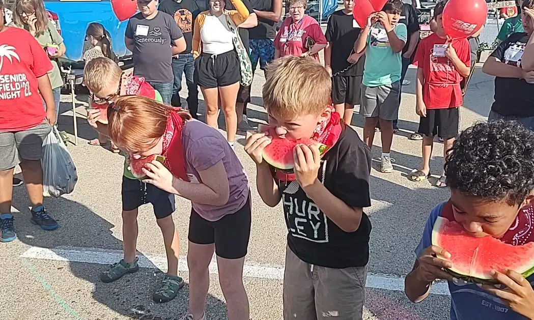
[[[443,207],[441,216],[450,221],[455,221],[450,202],[447,202]],[[534,242],[534,206],[532,204],[519,210],[514,223],[499,240],[511,245]]]

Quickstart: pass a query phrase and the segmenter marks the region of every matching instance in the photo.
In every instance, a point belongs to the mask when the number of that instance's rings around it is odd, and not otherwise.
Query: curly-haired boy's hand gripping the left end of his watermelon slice
[[[417,259],[419,266],[414,269],[414,276],[421,282],[434,282],[437,279],[453,281],[451,274],[445,268],[452,268],[452,262],[445,259],[451,258],[451,254],[438,246],[431,245]]]

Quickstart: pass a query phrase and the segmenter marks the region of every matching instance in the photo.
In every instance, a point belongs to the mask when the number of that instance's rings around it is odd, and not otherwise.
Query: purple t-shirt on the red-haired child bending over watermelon
[[[185,170],[192,182],[196,178],[202,183],[199,171],[204,171],[222,160],[230,186],[230,197],[225,205],[191,202],[193,209],[208,221],[217,221],[226,214],[241,209],[248,197],[248,179],[241,162],[223,135],[203,122],[190,120],[185,123],[182,131],[182,145]]]

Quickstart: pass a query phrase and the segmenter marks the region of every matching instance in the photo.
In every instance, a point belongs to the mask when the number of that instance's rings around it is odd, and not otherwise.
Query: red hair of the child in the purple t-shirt
[[[155,146],[167,129],[170,111],[175,110],[183,121],[189,112],[163,105],[138,95],[119,97],[107,108],[109,138],[128,151],[143,152]]]

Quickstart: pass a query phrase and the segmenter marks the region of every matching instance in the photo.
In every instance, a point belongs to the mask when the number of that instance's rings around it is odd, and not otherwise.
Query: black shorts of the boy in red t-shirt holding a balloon
[[[434,137],[438,135],[442,139],[458,137],[460,123],[459,108],[450,109],[427,109],[427,116],[419,120],[419,130],[417,132]]]

